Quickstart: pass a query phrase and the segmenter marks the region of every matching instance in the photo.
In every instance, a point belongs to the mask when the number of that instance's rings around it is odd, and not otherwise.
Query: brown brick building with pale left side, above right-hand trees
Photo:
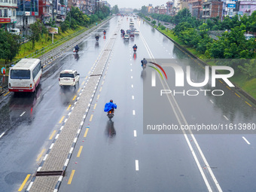
[[[219,2],[218,0],[203,2],[203,19],[208,19],[211,17],[219,17],[219,19],[221,19],[222,8],[223,2]]]

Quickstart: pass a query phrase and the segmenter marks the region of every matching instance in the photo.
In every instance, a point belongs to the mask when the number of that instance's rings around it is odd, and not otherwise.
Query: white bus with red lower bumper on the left
[[[9,91],[34,92],[41,80],[42,68],[40,59],[21,59],[10,69]]]

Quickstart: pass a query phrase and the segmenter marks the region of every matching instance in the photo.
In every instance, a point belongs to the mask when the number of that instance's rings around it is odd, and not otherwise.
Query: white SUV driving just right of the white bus
[[[59,74],[59,86],[74,86],[79,83],[79,74],[76,70],[64,70]]]

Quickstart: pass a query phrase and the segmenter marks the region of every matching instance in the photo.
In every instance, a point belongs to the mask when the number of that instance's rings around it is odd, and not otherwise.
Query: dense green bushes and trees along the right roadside
[[[244,35],[245,32],[256,32],[256,11],[248,17],[224,17],[222,22],[218,18],[207,19],[206,22],[197,20],[187,9],[179,11],[174,17],[142,13],[140,16],[152,24],[156,24],[156,20],[174,24],[172,30],[162,25],[157,29],[209,65],[232,67],[235,70],[231,78],[233,83],[256,98],[256,40],[245,40]],[[216,41],[209,36],[209,32],[218,30],[224,32]]]

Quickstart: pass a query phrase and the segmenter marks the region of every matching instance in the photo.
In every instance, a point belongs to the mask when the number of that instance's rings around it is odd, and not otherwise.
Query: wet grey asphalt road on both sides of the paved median
[[[99,46],[93,37],[89,37],[79,45],[79,59],[70,52],[56,61],[58,64],[44,74],[36,96],[12,95],[2,103],[0,135],[4,132],[5,135],[0,139],[0,185],[3,191],[17,191],[26,175],[35,172],[44,157],[38,159],[38,155],[49,148],[53,130],[59,129],[59,120],[72,104],[79,87],[77,90],[61,90],[57,81],[59,72],[76,69],[84,79],[108,41],[108,34],[114,32],[118,20],[120,29],[129,29],[129,21],[114,17],[105,26],[108,33],[106,39],[100,38]],[[147,23],[138,20],[135,24],[141,35],[130,41],[123,41],[120,37],[114,44],[109,67],[105,69],[105,79],[103,77],[99,84],[59,190],[254,191],[254,134],[209,132],[193,137],[181,131],[178,134],[143,133],[143,118],[146,120],[143,109],[152,111],[157,123],[178,125],[178,120],[175,117],[177,109],[172,110],[166,96],[159,98],[157,94],[143,92],[143,83],[151,81],[152,69],[148,67],[142,71],[140,60],[151,56],[175,59],[182,67],[190,66],[191,78],[195,82],[202,81],[204,69],[197,63],[186,61],[187,55]],[[133,54],[133,44],[138,45],[136,55]],[[175,77],[174,72],[166,69],[166,75],[171,90],[192,89],[187,84],[182,89],[176,89],[172,78]],[[159,93],[160,89],[163,88],[157,78],[155,93]],[[211,89],[210,84],[202,89]],[[174,96],[188,124],[256,123],[254,107],[246,104],[242,96],[236,96],[220,82],[215,89],[224,90],[224,96]],[[103,111],[109,99],[117,103],[111,121]],[[148,99],[149,106],[143,106]],[[190,145],[195,153],[191,152]],[[219,188],[212,175],[218,181]]]

